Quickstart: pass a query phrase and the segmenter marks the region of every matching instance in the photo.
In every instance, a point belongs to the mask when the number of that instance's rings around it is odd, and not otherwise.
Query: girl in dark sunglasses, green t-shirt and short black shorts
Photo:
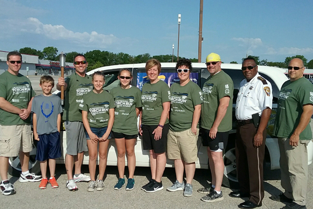
[[[117,168],[119,173],[119,180],[114,186],[115,190],[121,190],[125,184],[125,152],[127,152],[129,171],[126,190],[133,190],[135,185],[135,144],[138,137],[137,118],[141,109],[141,91],[137,87],[130,85],[132,78],[132,73],[129,69],[120,70],[118,75],[120,86],[111,90],[116,105],[112,134],[117,148]]]

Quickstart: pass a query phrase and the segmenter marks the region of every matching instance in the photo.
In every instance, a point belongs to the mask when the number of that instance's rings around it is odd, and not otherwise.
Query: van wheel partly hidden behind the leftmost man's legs
[[[29,153],[28,169],[30,173],[40,173],[40,162],[36,160],[37,148],[33,145],[33,150]],[[11,176],[19,177],[22,172],[19,156],[9,157],[8,173]]]

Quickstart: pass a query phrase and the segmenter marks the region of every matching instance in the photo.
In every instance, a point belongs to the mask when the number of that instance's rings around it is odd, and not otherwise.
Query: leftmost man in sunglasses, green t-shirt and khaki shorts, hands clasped
[[[29,79],[19,74],[22,55],[9,52],[6,60],[8,70],[0,76],[0,188],[3,195],[13,195],[14,186],[7,179],[9,157],[19,154],[19,182],[38,182],[42,177],[28,171],[29,152],[33,149],[29,114],[36,94]]]

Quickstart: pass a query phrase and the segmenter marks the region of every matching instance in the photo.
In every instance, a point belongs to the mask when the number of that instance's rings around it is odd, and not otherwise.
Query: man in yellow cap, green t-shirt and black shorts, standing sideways
[[[201,188],[199,193],[204,202],[224,199],[221,191],[224,176],[223,149],[227,146],[229,131],[232,129],[234,84],[231,77],[221,69],[221,57],[211,53],[206,65],[211,74],[202,88],[201,132],[203,146],[207,146],[212,173],[211,188]]]

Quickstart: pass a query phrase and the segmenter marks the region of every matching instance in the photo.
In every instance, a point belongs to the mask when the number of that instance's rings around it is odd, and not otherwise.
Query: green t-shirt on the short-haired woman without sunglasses
[[[163,111],[163,103],[170,102],[169,87],[164,81],[159,80],[155,84],[150,81],[142,88],[141,103],[143,112],[141,121],[144,125],[157,125]],[[166,119],[165,124],[168,123]]]

